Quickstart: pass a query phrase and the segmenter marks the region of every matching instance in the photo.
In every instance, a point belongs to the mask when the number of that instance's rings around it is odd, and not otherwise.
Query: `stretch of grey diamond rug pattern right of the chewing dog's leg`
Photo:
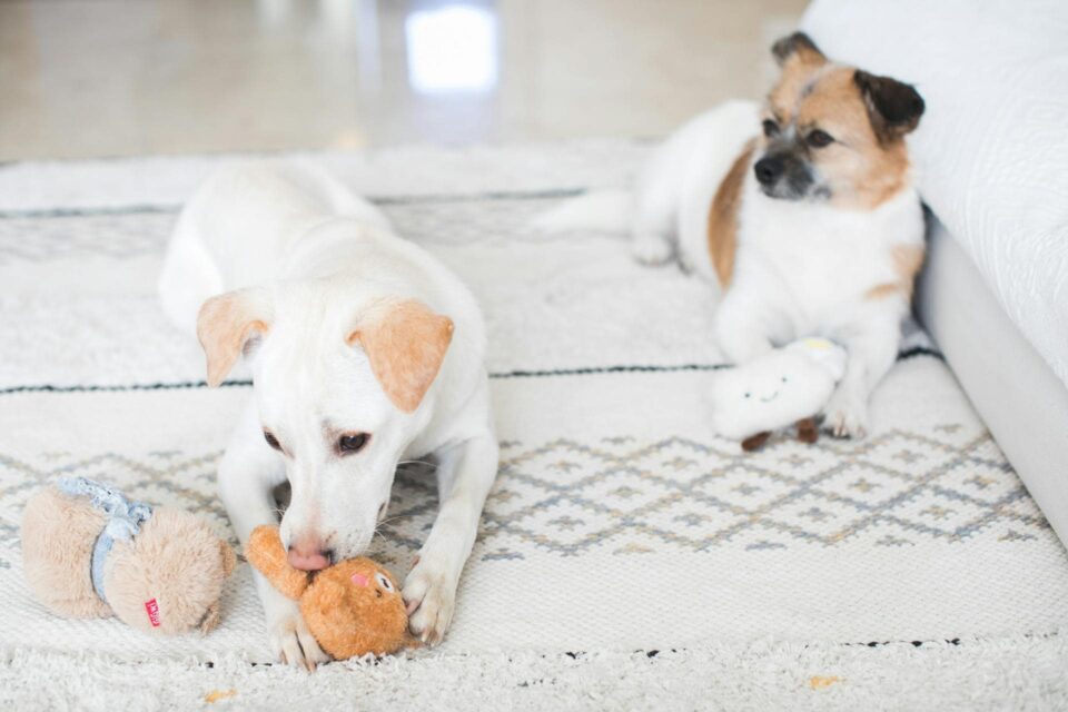
[[[659,551],[1049,535],[987,433],[965,441],[891,431],[814,447],[780,441],[756,456],[735,448],[684,438],[512,447],[483,542],[495,556],[573,556],[639,534]],[[914,459],[894,467],[888,453]],[[983,487],[989,495],[977,496]]]

